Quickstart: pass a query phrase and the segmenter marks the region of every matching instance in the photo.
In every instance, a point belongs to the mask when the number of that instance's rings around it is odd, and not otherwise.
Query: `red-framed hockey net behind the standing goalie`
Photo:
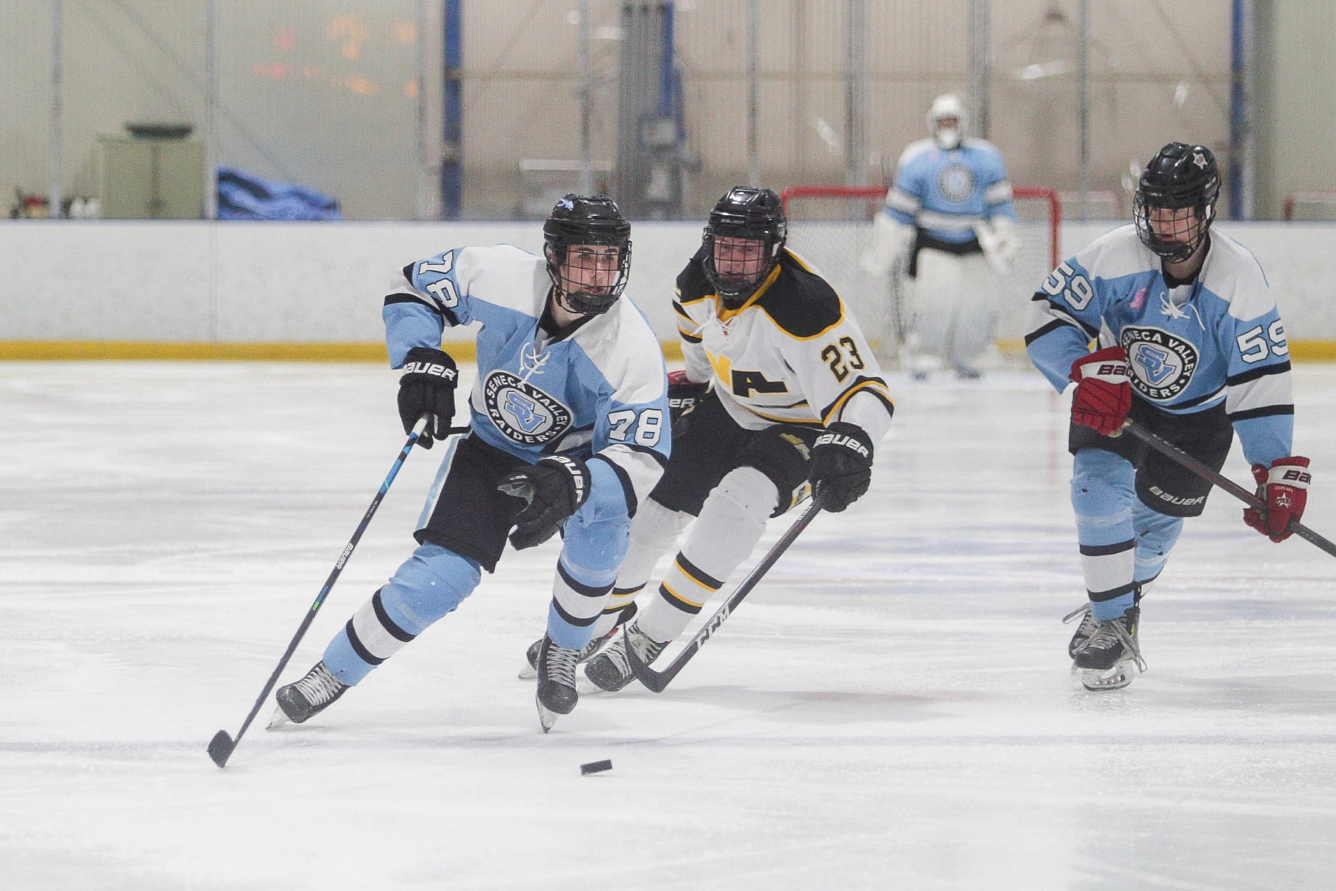
[[[886,188],[878,186],[790,186],[780,198],[788,214],[788,246],[810,262],[839,291],[858,318],[878,357],[894,366],[898,333],[907,307],[894,282],[868,275],[859,266],[880,212]],[[1030,295],[1049,277],[1058,255],[1062,206],[1051,188],[1013,190],[1019,251],[1001,282],[998,345],[1003,354],[1021,353]]]

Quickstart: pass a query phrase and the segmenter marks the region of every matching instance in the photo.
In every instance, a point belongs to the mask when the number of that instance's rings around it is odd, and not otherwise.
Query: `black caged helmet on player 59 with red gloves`
[[[1141,171],[1133,218],[1141,243],[1170,263],[1188,259],[1206,239],[1206,231],[1216,219],[1216,199],[1220,196],[1220,167],[1216,156],[1205,146],[1169,143],[1150,159]],[[1194,222],[1185,222],[1182,230],[1164,232],[1150,226],[1154,207],[1197,211]],[[1173,238],[1166,238],[1172,234]]]

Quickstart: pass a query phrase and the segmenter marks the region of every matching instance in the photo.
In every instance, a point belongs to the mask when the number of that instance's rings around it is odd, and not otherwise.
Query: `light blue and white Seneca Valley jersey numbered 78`
[[[440,349],[448,325],[478,322],[473,435],[525,461],[592,457],[591,497],[617,485],[635,514],[672,441],[659,339],[625,298],[553,339],[538,327],[549,289],[545,260],[510,244],[410,263],[382,311],[390,365]]]

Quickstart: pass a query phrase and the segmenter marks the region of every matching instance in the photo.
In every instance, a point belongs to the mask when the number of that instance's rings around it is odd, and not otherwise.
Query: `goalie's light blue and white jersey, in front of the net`
[[[1015,219],[1002,152],[986,139],[966,139],[950,150],[931,139],[910,143],[886,192],[884,212],[953,244],[974,238],[981,220]]]

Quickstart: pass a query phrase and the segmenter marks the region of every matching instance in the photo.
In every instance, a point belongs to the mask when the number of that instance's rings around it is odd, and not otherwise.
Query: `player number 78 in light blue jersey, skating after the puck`
[[[414,537],[418,548],[334,636],[325,657],[279,688],[277,723],[325,709],[493,572],[510,542],[562,532],[538,655],[544,732],[577,701],[576,653],[589,641],[629,540],[631,517],[669,452],[659,341],[619,299],[631,224],[603,195],[566,195],[544,224],[545,256],[508,244],[457,247],[403,267],[385,298],[390,363],[402,369],[405,430],[448,437],[454,361],[446,326],[478,322],[469,433],[448,438]],[[513,528],[513,532],[512,532]],[[273,724],[271,724],[273,727]]]

